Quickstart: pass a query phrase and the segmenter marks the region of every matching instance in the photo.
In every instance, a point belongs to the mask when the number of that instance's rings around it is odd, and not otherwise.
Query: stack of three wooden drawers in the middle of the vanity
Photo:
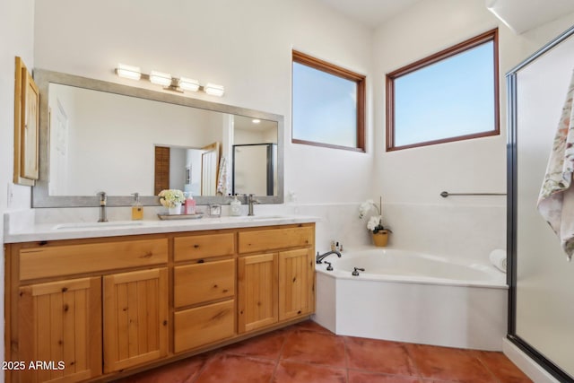
[[[236,335],[235,233],[174,239],[174,353]],[[190,261],[190,262],[189,262]]]

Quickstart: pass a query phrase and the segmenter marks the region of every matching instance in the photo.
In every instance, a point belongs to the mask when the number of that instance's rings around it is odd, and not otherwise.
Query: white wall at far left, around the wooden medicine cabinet
[[[20,56],[29,68],[34,66],[33,56],[33,0],[3,0],[0,3],[0,215],[8,209],[30,207],[30,187],[12,187],[13,201],[8,205],[8,186],[13,178],[13,91],[14,57]],[[4,232],[4,220],[0,219],[0,232]],[[4,239],[0,238],[0,279],[4,281]],[[0,284],[0,318],[4,318],[4,283]],[[4,339],[4,324],[0,326]],[[0,359],[4,361],[4,346],[0,347]],[[4,374],[0,374],[4,381]]]

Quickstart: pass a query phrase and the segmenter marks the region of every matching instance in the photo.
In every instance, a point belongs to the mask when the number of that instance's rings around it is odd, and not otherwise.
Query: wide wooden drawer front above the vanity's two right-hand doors
[[[313,228],[309,226],[239,232],[239,253],[295,248],[313,244]]]

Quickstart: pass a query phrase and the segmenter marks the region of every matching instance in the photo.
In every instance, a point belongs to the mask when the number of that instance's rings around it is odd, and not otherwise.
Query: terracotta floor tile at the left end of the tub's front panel
[[[352,336],[344,342],[350,369],[418,377],[404,344]]]

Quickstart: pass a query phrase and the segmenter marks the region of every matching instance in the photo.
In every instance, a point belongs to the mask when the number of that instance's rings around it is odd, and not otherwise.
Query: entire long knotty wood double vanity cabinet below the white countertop
[[[110,380],[296,323],[314,223],[5,245],[7,382]],[[32,370],[31,362],[42,362]]]

